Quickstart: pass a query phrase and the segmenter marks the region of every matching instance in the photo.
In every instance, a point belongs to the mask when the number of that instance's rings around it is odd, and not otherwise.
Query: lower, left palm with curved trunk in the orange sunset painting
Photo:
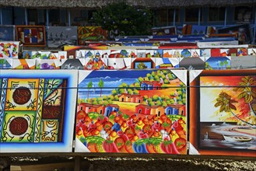
[[[215,107],[219,106],[219,112],[225,111],[226,113],[230,112],[233,117],[236,117],[237,120],[240,120],[244,124],[248,125],[255,125],[251,124],[245,120],[240,119],[240,117],[237,117],[237,114],[233,113],[232,110],[237,110],[237,107],[233,105],[233,103],[237,103],[236,100],[232,99],[230,95],[228,95],[226,92],[220,92],[219,97],[216,99],[217,103],[215,103]]]

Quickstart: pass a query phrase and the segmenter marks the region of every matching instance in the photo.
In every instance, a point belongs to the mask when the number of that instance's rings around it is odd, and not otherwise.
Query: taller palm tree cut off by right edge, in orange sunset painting
[[[242,78],[241,82],[238,82],[239,87],[234,88],[234,91],[240,92],[239,99],[244,98],[245,103],[250,106],[251,112],[256,117],[256,104],[252,105],[251,102],[256,98],[256,91],[252,89],[252,86],[256,86],[256,81],[250,76]]]

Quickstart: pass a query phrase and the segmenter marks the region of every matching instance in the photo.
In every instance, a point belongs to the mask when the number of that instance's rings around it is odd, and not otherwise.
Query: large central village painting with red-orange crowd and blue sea
[[[75,152],[187,154],[186,71],[79,71]]]

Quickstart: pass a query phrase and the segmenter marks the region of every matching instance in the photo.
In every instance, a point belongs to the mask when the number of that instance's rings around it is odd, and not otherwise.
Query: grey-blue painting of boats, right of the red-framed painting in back
[[[48,26],[47,47],[61,48],[77,45],[77,26]]]

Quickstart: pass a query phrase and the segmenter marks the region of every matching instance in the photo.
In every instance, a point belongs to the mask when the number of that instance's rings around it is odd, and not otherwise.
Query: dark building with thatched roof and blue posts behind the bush
[[[121,0],[1,0],[1,25],[89,26],[93,11]],[[226,27],[250,24],[255,37],[256,0],[127,0],[155,13],[153,26]]]

